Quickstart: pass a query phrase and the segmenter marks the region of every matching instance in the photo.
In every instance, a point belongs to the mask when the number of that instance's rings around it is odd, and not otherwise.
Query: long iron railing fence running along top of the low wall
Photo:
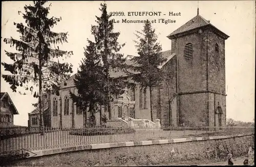
[[[191,136],[254,132],[254,127],[88,127],[0,129],[0,155],[12,151],[42,150],[69,146],[136,142]]]

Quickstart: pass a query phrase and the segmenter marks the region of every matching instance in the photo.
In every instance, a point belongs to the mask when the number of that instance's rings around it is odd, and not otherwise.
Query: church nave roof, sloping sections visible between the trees
[[[161,53],[162,53],[163,58],[167,59],[166,62],[168,62],[170,60],[170,57],[172,57],[172,55],[171,55],[172,53],[171,53],[170,50],[162,51]],[[163,65],[166,64],[166,62],[164,62]],[[136,66],[136,64],[134,64],[131,60],[126,60],[125,64]],[[160,68],[162,66],[160,66]],[[66,81],[62,82],[60,84],[60,89],[74,87],[75,86],[75,84],[74,84],[75,75],[76,74],[72,75],[69,79],[67,79]],[[123,72],[123,71],[117,71],[116,72],[116,71],[110,70],[110,77],[112,77],[112,78],[116,78],[116,77],[120,77],[120,76],[125,76],[125,75],[126,75],[126,73]]]

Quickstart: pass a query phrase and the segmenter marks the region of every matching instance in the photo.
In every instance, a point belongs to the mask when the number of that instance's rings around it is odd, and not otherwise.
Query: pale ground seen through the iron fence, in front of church
[[[116,142],[135,142],[148,141],[156,139],[177,138],[191,135],[199,135],[205,131],[167,131],[154,129],[137,129],[135,132],[126,134],[110,134],[110,135],[72,135],[70,130],[56,130],[45,132],[44,135],[28,134],[24,136],[12,137],[0,141],[0,154],[19,149],[42,150],[50,148],[116,143]]]

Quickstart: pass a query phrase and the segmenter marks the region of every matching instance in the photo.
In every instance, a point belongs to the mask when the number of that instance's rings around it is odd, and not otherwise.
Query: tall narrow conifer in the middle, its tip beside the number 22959
[[[116,72],[118,70],[124,70],[125,58],[118,51],[125,44],[119,45],[117,42],[120,35],[119,32],[115,33],[113,19],[111,15],[106,11],[106,4],[100,4],[100,11],[102,12],[100,17],[96,16],[96,22],[98,25],[92,26],[92,34],[95,37],[95,45],[97,54],[100,55],[100,60],[103,67],[104,83],[103,91],[105,92],[105,101],[108,103],[109,119],[111,116],[111,101],[112,95],[119,94],[123,87],[125,87],[125,78],[121,76],[111,77],[110,72]]]

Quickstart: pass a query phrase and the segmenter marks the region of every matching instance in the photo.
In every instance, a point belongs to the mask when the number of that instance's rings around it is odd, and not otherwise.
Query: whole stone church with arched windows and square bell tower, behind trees
[[[161,87],[153,90],[154,121],[159,119],[161,126],[174,127],[225,126],[225,40],[229,36],[198,12],[167,38],[171,41],[171,50],[162,52],[167,60],[159,68],[166,70],[168,76]],[[110,77],[120,75],[122,72],[113,72]],[[74,76],[59,86],[59,96],[44,95],[44,126],[79,128],[87,124],[89,114],[84,115],[69,95],[70,91],[77,93]],[[113,96],[112,118],[108,118],[107,107],[98,107],[96,124],[101,123],[100,115],[106,115],[109,121],[151,120],[149,97],[149,90],[142,91],[139,85],[134,89],[125,88],[122,95]],[[38,127],[38,118],[36,108],[29,113],[29,126]]]

